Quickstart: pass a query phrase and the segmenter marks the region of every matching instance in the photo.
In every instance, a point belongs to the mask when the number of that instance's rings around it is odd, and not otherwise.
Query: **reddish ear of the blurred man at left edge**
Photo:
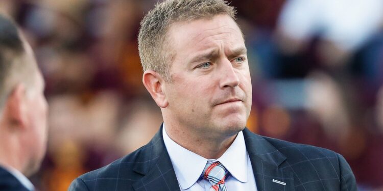
[[[26,89],[22,84],[16,85],[9,95],[6,103],[6,110],[9,116],[9,123],[13,127],[26,127]]]

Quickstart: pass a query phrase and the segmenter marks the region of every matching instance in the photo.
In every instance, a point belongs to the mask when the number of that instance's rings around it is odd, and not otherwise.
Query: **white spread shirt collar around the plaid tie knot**
[[[208,159],[174,142],[169,135],[167,135],[165,125],[162,127],[162,137],[180,187],[182,189],[191,187],[200,178]],[[234,142],[217,160],[225,166],[235,179],[241,182],[247,182],[248,157],[242,131],[238,133]]]

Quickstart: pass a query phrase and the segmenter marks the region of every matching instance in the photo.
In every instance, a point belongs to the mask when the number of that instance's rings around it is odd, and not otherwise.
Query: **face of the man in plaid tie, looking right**
[[[251,79],[241,30],[228,15],[175,23],[169,30],[172,82],[163,109],[176,125],[233,135],[250,114]]]

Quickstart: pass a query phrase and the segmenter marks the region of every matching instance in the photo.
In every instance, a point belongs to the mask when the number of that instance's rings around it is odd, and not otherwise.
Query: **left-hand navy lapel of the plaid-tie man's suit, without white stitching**
[[[142,148],[133,170],[143,177],[133,184],[140,190],[180,190],[169,154],[162,139],[162,125],[154,138]]]

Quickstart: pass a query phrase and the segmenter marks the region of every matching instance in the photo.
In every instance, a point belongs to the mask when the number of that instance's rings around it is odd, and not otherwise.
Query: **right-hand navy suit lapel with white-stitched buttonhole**
[[[293,172],[280,168],[286,157],[261,136],[243,132],[258,191],[295,190]]]

